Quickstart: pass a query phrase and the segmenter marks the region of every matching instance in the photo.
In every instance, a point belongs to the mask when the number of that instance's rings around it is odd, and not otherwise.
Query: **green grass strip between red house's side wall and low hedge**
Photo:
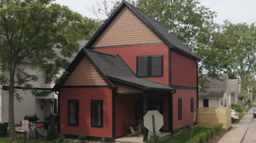
[[[203,133],[205,131],[209,130],[209,128],[203,128],[203,127],[195,127],[193,129],[193,135],[192,138],[200,133]],[[190,139],[191,130],[187,130],[185,132],[182,132],[179,135],[175,135],[172,138],[168,138],[167,140],[163,141],[163,143],[184,143],[186,141],[189,141]]]

